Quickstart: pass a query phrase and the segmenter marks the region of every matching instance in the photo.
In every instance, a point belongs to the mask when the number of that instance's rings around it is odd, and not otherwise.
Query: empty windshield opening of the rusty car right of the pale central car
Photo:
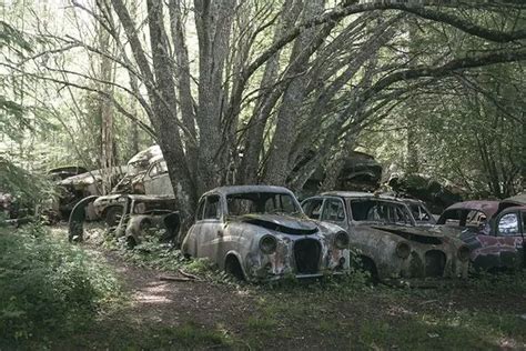
[[[402,203],[382,200],[353,200],[351,201],[353,220],[413,224],[411,214]]]

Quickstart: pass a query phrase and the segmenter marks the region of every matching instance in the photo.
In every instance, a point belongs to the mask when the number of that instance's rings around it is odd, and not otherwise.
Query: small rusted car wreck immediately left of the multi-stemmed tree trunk
[[[158,235],[164,242],[176,238],[181,221],[173,197],[127,194],[119,201],[125,211],[115,235],[124,237],[129,248],[139,244],[148,234]]]

